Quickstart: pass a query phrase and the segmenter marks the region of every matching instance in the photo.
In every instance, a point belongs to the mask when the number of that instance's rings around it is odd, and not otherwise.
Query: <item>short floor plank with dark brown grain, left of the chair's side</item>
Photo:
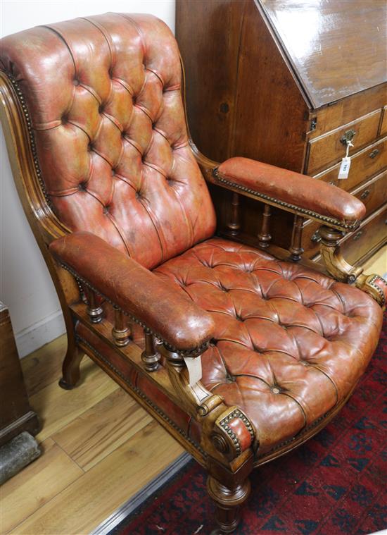
[[[119,389],[52,438],[82,469],[89,470],[151,421],[152,417]]]

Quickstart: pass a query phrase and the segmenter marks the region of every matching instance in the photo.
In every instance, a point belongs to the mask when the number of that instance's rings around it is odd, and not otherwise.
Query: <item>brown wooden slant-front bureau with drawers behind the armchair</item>
[[[217,161],[248,156],[305,173],[362,199],[367,214],[342,250],[364,262],[387,241],[386,2],[177,0],[176,9],[198,148]],[[338,180],[345,135],[353,160],[348,180]],[[229,195],[212,194],[227,227]],[[262,207],[240,202],[241,230],[255,243]],[[272,235],[283,247],[286,228],[291,215],[276,213]],[[320,260],[318,223],[306,218],[302,234],[306,256]]]

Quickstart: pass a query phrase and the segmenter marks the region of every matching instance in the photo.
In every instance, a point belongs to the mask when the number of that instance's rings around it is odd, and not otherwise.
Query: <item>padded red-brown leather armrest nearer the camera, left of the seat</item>
[[[61,264],[175,350],[191,352],[213,337],[215,325],[208,312],[98,236],[75,232],[49,248]]]

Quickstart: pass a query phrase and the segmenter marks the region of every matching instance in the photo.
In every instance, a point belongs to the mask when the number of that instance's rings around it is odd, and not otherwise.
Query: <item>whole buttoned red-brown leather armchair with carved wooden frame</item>
[[[317,433],[360,379],[387,283],[350,266],[364,215],[332,185],[189,138],[179,51],[145,15],[108,13],[3,39],[1,113],[23,207],[61,300],[63,388],[86,353],[208,469],[217,522],[235,529],[248,476]],[[217,224],[208,187],[230,190]],[[265,202],[253,244],[239,195]],[[289,250],[270,207],[295,214]],[[303,262],[303,217],[326,267]]]

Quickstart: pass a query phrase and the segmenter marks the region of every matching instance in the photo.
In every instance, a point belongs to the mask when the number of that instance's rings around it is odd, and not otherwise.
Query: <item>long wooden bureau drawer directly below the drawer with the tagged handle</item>
[[[383,138],[369,147],[366,147],[355,156],[351,158],[350,173],[346,180],[338,180],[338,170],[340,163],[323,171],[315,178],[324,180],[341,187],[342,190],[350,191],[354,187],[364,182],[368,178],[379,173],[383,168],[387,167],[387,138]]]

